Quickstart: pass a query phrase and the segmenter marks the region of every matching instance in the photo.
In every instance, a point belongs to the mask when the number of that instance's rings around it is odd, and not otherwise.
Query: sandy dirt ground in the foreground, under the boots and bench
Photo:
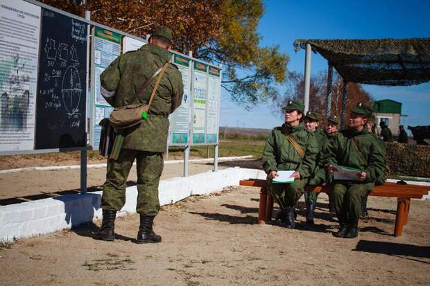
[[[254,224],[256,188],[191,197],[156,218],[161,244],[130,240],[137,215],[117,220],[118,239],[91,238],[94,224],[0,250],[1,285],[428,285],[430,202],[413,200],[394,238],[396,200],[369,197],[359,238],[334,238],[336,221],[320,195],[313,229]],[[98,225],[99,222],[96,222]]]

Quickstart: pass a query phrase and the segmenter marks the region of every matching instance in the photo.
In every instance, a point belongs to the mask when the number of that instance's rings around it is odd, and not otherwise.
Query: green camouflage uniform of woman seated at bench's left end
[[[290,102],[289,105],[293,106],[298,103],[294,100]],[[289,108],[289,105],[284,109]],[[300,103],[299,106],[302,104]],[[304,150],[304,158],[300,157],[286,135],[293,136],[297,141]],[[294,127],[284,123],[282,127],[275,127],[268,136],[262,156],[264,171],[267,174],[278,170],[295,170],[300,173],[300,179],[295,179],[291,184],[273,184],[272,179],[267,178],[268,190],[270,190],[281,211],[286,210],[286,208],[293,208],[303,195],[307,178],[311,176],[311,172],[315,168],[317,152],[318,146],[315,137],[312,132],[304,127],[303,123]]]

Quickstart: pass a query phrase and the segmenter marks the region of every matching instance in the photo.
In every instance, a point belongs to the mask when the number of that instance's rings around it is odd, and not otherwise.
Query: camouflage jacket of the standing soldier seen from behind
[[[114,97],[106,98],[107,102],[113,107],[146,103],[153,91],[155,80],[142,95],[138,95],[133,102],[130,101],[140,92],[146,80],[168,60],[169,52],[153,44],[146,44],[138,51],[117,57],[117,60],[114,60],[100,76],[103,89],[115,91]],[[148,118],[137,127],[124,131],[122,147],[164,152],[169,132],[168,116],[182,103],[183,92],[182,75],[174,64],[169,64],[150,105]]]

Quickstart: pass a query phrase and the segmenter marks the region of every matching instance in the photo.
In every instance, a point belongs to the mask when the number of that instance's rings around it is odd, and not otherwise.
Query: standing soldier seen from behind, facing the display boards
[[[155,80],[141,93],[144,83],[169,62],[172,31],[155,28],[149,44],[138,51],[125,53],[114,60],[101,74],[101,94],[113,107],[146,103],[155,86]],[[101,208],[103,221],[96,239],[114,240],[114,221],[117,211],[126,202],[126,181],[133,161],[137,160],[137,206],[140,226],[137,243],[161,242],[153,232],[153,221],[160,210],[158,184],[163,170],[163,152],[166,150],[169,130],[168,116],[182,102],[183,84],[180,71],[168,64],[157,88],[148,117],[140,125],[123,132],[123,144],[117,159],[107,161],[106,181],[103,185]],[[134,98],[133,102],[132,99]]]

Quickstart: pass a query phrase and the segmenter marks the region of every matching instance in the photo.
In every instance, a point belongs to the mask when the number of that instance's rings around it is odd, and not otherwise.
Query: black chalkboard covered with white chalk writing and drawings
[[[87,24],[42,11],[35,149],[86,145]]]

